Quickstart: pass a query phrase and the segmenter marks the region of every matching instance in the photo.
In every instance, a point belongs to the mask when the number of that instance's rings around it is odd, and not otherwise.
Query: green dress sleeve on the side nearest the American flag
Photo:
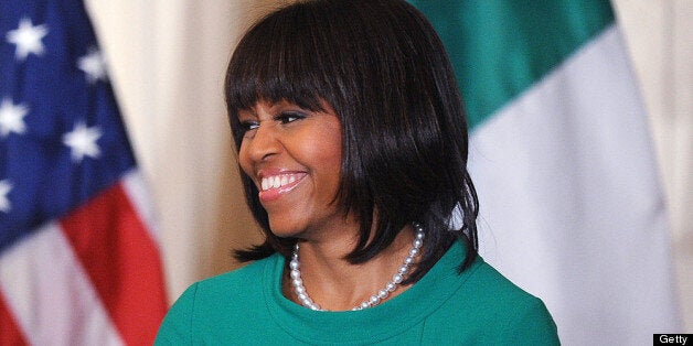
[[[192,321],[198,284],[193,284],[175,301],[163,317],[154,345],[192,345]]]

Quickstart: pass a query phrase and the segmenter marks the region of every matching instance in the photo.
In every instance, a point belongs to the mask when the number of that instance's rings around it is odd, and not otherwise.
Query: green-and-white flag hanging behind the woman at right
[[[466,102],[484,259],[544,300],[566,345],[676,332],[663,193],[609,2],[411,2]]]

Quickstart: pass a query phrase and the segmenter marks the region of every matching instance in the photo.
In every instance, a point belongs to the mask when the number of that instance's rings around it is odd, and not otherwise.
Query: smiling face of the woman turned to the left
[[[343,221],[334,202],[341,123],[329,105],[323,108],[314,112],[287,101],[259,101],[238,112],[246,130],[238,161],[257,186],[276,236],[300,236]]]

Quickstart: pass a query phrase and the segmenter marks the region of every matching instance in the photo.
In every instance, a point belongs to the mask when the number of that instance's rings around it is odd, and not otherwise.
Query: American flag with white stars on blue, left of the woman
[[[0,345],[150,345],[159,239],[82,1],[1,0],[0,72]]]

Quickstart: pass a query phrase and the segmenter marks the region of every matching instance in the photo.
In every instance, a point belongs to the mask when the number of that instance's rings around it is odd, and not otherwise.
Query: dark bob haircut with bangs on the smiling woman
[[[352,263],[376,256],[414,221],[424,227],[426,241],[407,282],[420,279],[456,239],[467,248],[460,271],[477,257],[479,204],[467,171],[460,93],[443,43],[411,4],[312,0],[279,9],[238,43],[225,94],[237,150],[243,140],[238,111],[259,100],[286,100],[312,111],[323,110],[324,100],[334,109],[343,145],[335,201],[361,227],[346,257]],[[266,240],[236,257],[288,257],[297,240],[271,233],[257,187],[241,175]],[[456,206],[461,227],[451,223]]]

